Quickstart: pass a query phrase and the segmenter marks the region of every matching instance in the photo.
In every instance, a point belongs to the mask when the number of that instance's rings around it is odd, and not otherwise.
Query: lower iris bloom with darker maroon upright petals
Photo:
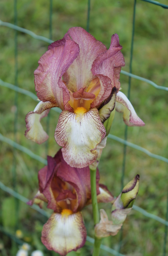
[[[81,210],[91,204],[89,167],[75,168],[68,165],[61,149],[54,157],[48,156],[48,165],[39,171],[39,192],[28,204],[47,202],[54,213],[43,226],[42,243],[48,250],[66,255],[81,248],[86,241],[86,228]],[[114,197],[106,186],[99,184],[96,173],[98,202],[111,202]]]

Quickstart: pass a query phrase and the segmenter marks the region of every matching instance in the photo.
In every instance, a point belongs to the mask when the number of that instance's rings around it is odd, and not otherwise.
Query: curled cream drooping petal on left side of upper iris
[[[50,108],[58,107],[57,103],[51,103],[50,101],[40,101],[34,111],[30,111],[26,117],[26,128],[25,137],[33,140],[39,144],[45,142],[48,139],[47,133],[43,130],[40,124],[41,118],[48,115]]]

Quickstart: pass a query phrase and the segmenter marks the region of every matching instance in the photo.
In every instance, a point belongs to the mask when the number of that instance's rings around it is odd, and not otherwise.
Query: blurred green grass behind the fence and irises
[[[168,1],[161,1],[168,4]],[[91,0],[89,32],[109,48],[111,36],[117,33],[125,67],[129,72],[134,1]],[[149,79],[157,85],[168,85],[168,10],[145,1],[136,1],[135,34],[133,41],[132,73]],[[37,35],[56,41],[70,27],[87,29],[88,1],[86,0],[1,0],[0,19],[31,30]],[[0,79],[35,94],[34,70],[38,60],[46,52],[49,43],[33,38],[13,28],[0,26]],[[42,120],[49,140],[38,145],[24,137],[25,115],[33,110],[37,101],[28,95],[7,88],[0,81],[0,177],[2,183],[22,196],[32,199],[38,189],[37,174],[45,161],[33,159],[23,148],[13,147],[14,142],[46,159],[54,156],[60,148],[54,140],[54,131],[59,113],[50,111]],[[129,76],[120,75],[122,92],[128,95]],[[2,85],[2,86],[1,86]],[[8,84],[9,85],[9,84]],[[9,86],[8,86],[9,87]],[[122,143],[108,138],[103,150],[99,170],[101,183],[117,196],[123,184],[140,174],[140,188],[135,205],[163,218],[167,214],[168,195],[168,92],[153,87],[144,81],[131,79],[130,101],[137,115],[145,122],[144,127],[128,127],[127,139],[151,153],[164,157],[162,160],[148,156],[131,147],[124,149]],[[46,119],[46,120],[45,120]],[[111,134],[125,138],[122,114],[116,113]],[[6,139],[7,138],[7,139]],[[10,140],[8,140],[10,139]],[[20,150],[21,149],[21,150]],[[123,151],[126,152],[123,168]],[[39,159],[41,160],[41,158]],[[167,161],[167,163],[166,163]],[[0,188],[0,255],[16,255],[19,244],[26,242],[32,250],[49,252],[41,243],[41,230],[47,217]],[[10,191],[11,192],[11,191]],[[111,205],[101,204],[110,214]],[[50,210],[47,209],[50,213]],[[88,236],[94,236],[92,207],[83,210]],[[132,210],[120,231],[103,244],[127,256],[168,255],[167,226],[139,211]],[[18,236],[20,230],[22,235]],[[89,256],[93,245],[86,242],[78,252],[68,255]],[[167,243],[168,247],[168,243]],[[1,254],[2,253],[2,254]],[[103,255],[117,255],[101,250]],[[120,255],[120,254],[118,254]]]

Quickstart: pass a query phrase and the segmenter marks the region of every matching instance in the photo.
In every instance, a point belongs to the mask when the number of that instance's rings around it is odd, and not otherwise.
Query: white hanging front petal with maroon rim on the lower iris
[[[42,230],[42,243],[48,250],[60,255],[76,251],[86,242],[86,228],[81,212],[72,214],[68,209],[53,213]]]

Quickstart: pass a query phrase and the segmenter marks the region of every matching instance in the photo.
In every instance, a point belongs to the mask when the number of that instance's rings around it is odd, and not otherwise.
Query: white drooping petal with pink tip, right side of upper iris
[[[136,115],[135,109],[122,92],[116,95],[115,109],[123,113],[124,123],[129,126],[143,126],[143,121]]]

